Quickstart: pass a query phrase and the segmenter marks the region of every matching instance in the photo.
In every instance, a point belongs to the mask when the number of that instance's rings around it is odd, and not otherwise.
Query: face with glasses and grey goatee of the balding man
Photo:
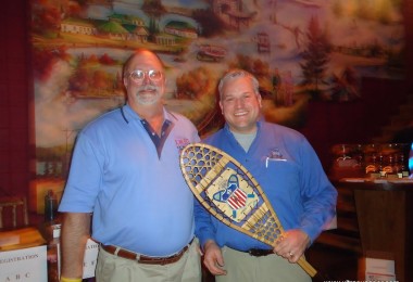
[[[124,77],[128,103],[135,106],[161,103],[165,89],[165,75],[158,57],[150,52],[137,54]]]

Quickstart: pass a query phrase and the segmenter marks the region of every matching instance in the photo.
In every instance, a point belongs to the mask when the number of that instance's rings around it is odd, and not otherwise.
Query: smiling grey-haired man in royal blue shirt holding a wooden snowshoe
[[[204,140],[236,158],[256,179],[286,230],[275,247],[231,229],[196,206],[204,265],[217,282],[309,282],[296,264],[335,215],[337,191],[306,139],[261,117],[258,80],[242,69],[220,81],[225,127]],[[234,182],[228,180],[228,187]],[[235,183],[236,184],[236,183]]]

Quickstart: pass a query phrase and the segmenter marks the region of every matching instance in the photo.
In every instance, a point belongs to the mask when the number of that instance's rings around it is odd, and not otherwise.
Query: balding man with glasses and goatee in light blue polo
[[[59,207],[62,282],[82,281],[90,223],[99,282],[201,280],[193,197],[179,168],[180,150],[199,137],[163,106],[165,81],[161,60],[136,51],[123,69],[127,103],[79,133]]]

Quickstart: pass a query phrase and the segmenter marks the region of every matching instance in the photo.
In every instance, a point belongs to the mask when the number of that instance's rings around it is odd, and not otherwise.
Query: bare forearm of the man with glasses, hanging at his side
[[[62,225],[62,277],[82,278],[85,247],[90,236],[90,214],[66,213]]]

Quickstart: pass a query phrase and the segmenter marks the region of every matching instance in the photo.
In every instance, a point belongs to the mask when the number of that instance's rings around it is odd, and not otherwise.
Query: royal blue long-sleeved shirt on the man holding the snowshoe
[[[228,125],[204,140],[245,166],[260,183],[285,230],[301,229],[311,242],[335,215],[337,191],[327,179],[314,150],[299,132],[258,121],[258,132],[246,152]],[[270,248],[222,223],[196,203],[196,234],[203,246],[214,240],[238,251]]]

